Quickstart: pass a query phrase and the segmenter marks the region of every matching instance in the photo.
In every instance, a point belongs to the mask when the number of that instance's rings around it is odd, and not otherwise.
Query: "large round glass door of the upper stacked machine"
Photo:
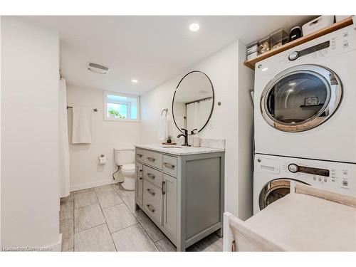
[[[342,99],[340,78],[328,68],[300,65],[273,78],[261,96],[269,125],[285,132],[310,130],[333,115]]]

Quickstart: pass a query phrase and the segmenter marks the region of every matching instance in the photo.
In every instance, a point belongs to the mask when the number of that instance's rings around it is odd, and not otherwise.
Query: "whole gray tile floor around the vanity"
[[[59,219],[62,251],[176,251],[120,184],[71,192]],[[211,234],[187,251],[222,251],[222,239]]]

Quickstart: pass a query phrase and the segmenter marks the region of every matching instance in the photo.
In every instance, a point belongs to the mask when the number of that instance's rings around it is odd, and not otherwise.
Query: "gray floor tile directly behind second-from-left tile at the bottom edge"
[[[99,204],[83,206],[74,210],[74,232],[78,233],[105,223]]]

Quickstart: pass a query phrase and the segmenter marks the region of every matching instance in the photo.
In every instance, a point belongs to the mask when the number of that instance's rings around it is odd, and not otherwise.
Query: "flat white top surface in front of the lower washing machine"
[[[355,225],[355,207],[297,193],[278,199],[244,221],[253,239],[259,236],[283,251],[356,251]],[[256,246],[246,236],[248,247]],[[262,247],[259,240],[257,244]]]

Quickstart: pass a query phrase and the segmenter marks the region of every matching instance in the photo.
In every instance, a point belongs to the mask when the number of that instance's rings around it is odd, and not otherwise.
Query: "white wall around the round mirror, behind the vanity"
[[[171,124],[169,127],[169,132],[173,137],[178,135],[178,130],[174,126],[172,120],[172,97],[174,90],[179,83],[179,80],[191,70],[201,70],[206,73],[211,79],[214,85],[215,91],[215,104],[214,112],[211,116],[209,125],[204,128],[204,130],[199,133],[201,137],[204,138],[215,138],[215,139],[225,139],[226,140],[226,152],[225,152],[225,209],[226,211],[231,211],[233,214],[239,215],[239,201],[241,206],[248,206],[246,210],[252,210],[252,203],[249,199],[246,200],[246,196],[252,194],[252,189],[248,188],[248,192],[239,198],[239,144],[244,141],[249,142],[251,145],[251,127],[253,125],[253,115],[250,112],[252,108],[251,98],[246,98],[247,94],[239,95],[239,70],[241,66],[241,60],[245,58],[245,51],[239,51],[239,45],[245,47],[243,43],[238,41],[231,43],[231,45],[226,46],[226,48],[221,49],[221,51],[216,52],[214,55],[206,58],[201,63],[197,63],[190,68],[187,68],[184,73],[179,75],[172,80],[159,85],[157,88],[150,90],[141,96],[141,142],[142,143],[157,143],[157,127],[159,115],[163,108],[169,108],[169,117]],[[239,52],[240,57],[239,59]],[[241,75],[246,75],[246,80],[248,80],[248,86],[241,83],[241,89],[246,90],[250,84],[253,84],[251,79],[251,70],[241,72]],[[240,99],[239,99],[240,97]],[[239,103],[246,101],[246,105],[241,105],[241,110],[239,110]],[[221,102],[221,106],[217,105]],[[244,123],[239,123],[239,113],[245,112],[244,109],[248,110],[246,116],[241,116],[241,120],[246,120]],[[241,126],[241,131],[244,130],[243,127],[248,125],[246,129],[246,135],[239,138],[239,126]],[[182,140],[180,140],[182,142]],[[247,152],[246,149],[242,152]],[[250,153],[250,152],[248,152]],[[249,155],[243,155],[244,157],[251,157]],[[249,164],[251,164],[251,159]],[[244,167],[247,167],[245,177],[241,179],[246,179],[250,182],[251,177],[251,167],[247,166],[248,160],[244,162]],[[249,198],[249,196],[248,196]],[[246,200],[246,201],[245,201]],[[246,214],[244,212],[244,214]],[[245,216],[245,215],[244,215]]]

